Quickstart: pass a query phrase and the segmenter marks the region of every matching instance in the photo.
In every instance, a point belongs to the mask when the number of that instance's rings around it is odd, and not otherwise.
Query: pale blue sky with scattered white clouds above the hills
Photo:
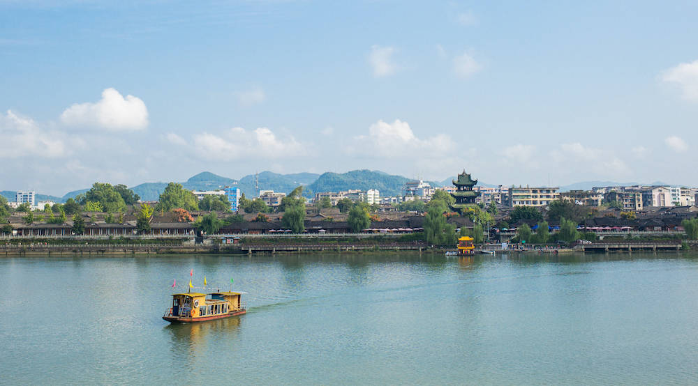
[[[0,0],[0,190],[698,185],[695,1]]]

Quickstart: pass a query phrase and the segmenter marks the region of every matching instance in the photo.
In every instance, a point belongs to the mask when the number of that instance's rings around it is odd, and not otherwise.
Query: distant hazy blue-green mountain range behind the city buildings
[[[452,185],[452,180],[456,179],[456,176],[451,178],[446,178],[440,182],[426,181],[432,186],[450,186]],[[299,185],[303,185],[304,196],[311,197],[315,192],[339,192],[341,190],[350,189],[378,189],[381,196],[397,196],[401,194],[402,188],[405,183],[411,180],[411,178],[396,176],[392,174],[385,173],[383,171],[377,170],[352,170],[346,173],[292,173],[292,174],[279,174],[272,171],[262,171],[256,176],[250,174],[244,176],[239,180],[234,178],[228,178],[223,176],[218,176],[209,171],[204,171],[192,176],[188,180],[181,183],[184,188],[188,190],[217,190],[222,189],[225,186],[237,186],[240,190],[248,197],[255,196],[257,189],[255,186],[258,184],[260,190],[274,190],[274,192],[284,192],[288,193],[295,189]],[[131,190],[138,194],[144,201],[155,201],[158,199],[160,194],[165,190],[168,183],[157,182],[157,183],[142,183],[140,185],[135,185],[131,187]],[[496,187],[498,185],[491,185],[487,183],[478,183],[478,186],[482,187]],[[570,190],[590,190],[595,186],[630,186],[638,185],[637,183],[616,183],[613,181],[585,181],[581,183],[573,183],[570,185],[565,185],[560,187],[560,192],[567,192]],[[660,181],[656,181],[651,184],[642,185],[667,185]],[[508,185],[504,185],[505,187]],[[88,188],[81,190],[74,190],[73,192],[68,192],[64,196],[52,196],[47,194],[36,194],[36,201],[54,201],[54,202],[65,202],[71,197],[75,197],[78,194],[87,192]],[[10,190],[3,190],[0,192],[2,196],[5,196],[8,201],[15,200],[15,192]]]

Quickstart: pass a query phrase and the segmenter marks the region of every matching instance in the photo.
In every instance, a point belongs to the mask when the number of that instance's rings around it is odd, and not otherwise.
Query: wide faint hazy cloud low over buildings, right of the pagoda
[[[550,152],[551,160],[560,168],[575,173],[596,173],[600,176],[618,176],[628,173],[628,166],[611,151],[590,148],[579,142],[562,144]]]

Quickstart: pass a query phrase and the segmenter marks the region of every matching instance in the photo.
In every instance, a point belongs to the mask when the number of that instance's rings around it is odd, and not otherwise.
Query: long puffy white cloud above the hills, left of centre
[[[196,155],[208,160],[269,159],[306,154],[304,146],[294,137],[280,139],[268,128],[253,131],[232,128],[221,134],[203,132],[194,136],[193,144]]]

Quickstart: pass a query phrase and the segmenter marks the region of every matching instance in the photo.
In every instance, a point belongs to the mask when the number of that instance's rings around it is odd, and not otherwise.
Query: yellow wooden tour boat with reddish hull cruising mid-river
[[[163,319],[171,323],[213,321],[245,314],[246,306],[239,292],[175,293],[172,308],[165,311]]]

